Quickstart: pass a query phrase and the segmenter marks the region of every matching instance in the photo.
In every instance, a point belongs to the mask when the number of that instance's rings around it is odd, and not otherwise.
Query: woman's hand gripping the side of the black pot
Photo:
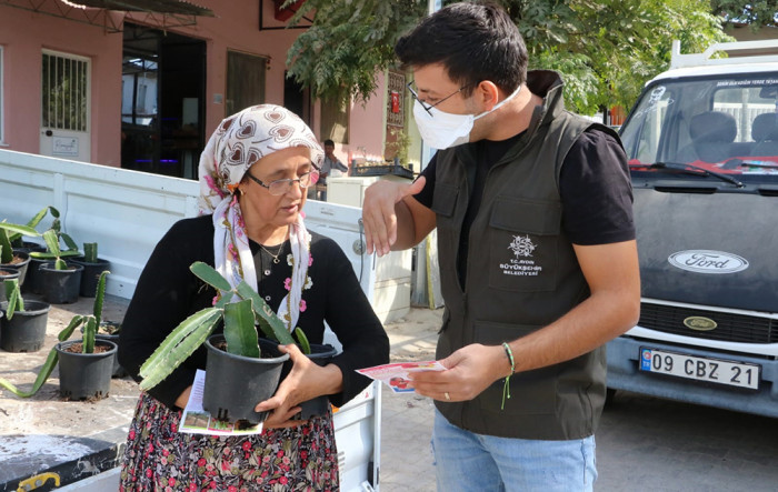
[[[300,403],[322,394],[338,393],[342,386],[343,378],[337,365],[328,364],[322,368],[295,344],[279,345],[279,350],[289,353],[293,365],[276,394],[255,408],[257,412],[271,411],[263,424],[266,429],[303,424],[306,421],[291,420],[300,412]]]

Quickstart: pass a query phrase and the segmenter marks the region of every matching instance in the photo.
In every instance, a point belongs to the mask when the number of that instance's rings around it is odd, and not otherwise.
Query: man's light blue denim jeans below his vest
[[[438,491],[591,491],[595,436],[533,441],[476,434],[435,411],[432,452]]]

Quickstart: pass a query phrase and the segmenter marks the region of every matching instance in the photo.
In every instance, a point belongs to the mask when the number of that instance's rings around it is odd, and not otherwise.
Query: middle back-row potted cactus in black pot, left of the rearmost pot
[[[83,267],[80,264],[70,264],[63,260],[67,257],[78,255],[78,249],[71,248],[61,251],[59,239],[57,231],[49,229],[43,232],[47,252],[33,251],[30,253],[32,258],[53,260],[41,264],[38,270],[38,285],[46,301],[52,304],[78,301],[81,291],[81,273],[83,272]]]

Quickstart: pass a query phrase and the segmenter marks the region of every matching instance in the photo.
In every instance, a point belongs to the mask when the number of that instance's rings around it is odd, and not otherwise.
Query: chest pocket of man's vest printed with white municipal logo
[[[489,287],[517,292],[557,285],[561,204],[498,197],[489,217]]]

